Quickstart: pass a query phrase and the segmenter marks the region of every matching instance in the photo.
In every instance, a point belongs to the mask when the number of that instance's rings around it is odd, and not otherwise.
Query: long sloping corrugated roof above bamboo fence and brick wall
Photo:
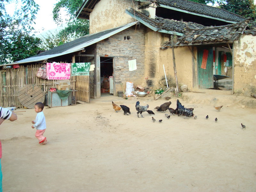
[[[60,46],[54,47],[51,50],[42,52],[38,55],[35,55],[33,57],[29,57],[24,60],[16,61],[11,64],[6,65],[14,65],[14,64],[21,64],[21,63],[29,63],[29,62],[35,62],[35,61],[41,61],[41,60],[47,60],[49,58],[58,57],[61,55],[66,55],[68,53],[80,51],[84,49],[85,47],[95,44],[99,41],[102,41],[103,39],[106,39],[112,35],[115,35],[116,33],[119,33],[123,31],[124,29],[127,29],[133,25],[135,25],[138,21],[128,23],[126,25],[122,25],[120,27],[104,30],[98,33],[93,33],[90,35],[86,35],[83,37],[80,37],[74,41],[70,41],[68,43],[62,44]]]

